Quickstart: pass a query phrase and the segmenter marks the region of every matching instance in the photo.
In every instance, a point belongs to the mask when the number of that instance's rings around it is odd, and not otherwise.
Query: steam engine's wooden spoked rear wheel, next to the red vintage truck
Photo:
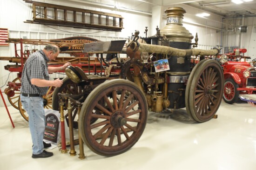
[[[212,119],[222,101],[223,85],[223,71],[216,60],[196,64],[185,92],[187,113],[198,122]]]

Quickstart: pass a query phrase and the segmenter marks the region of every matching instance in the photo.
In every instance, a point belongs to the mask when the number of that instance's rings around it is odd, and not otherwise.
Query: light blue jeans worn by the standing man
[[[20,101],[28,113],[28,124],[33,142],[33,154],[40,154],[44,149],[43,139],[46,123],[43,98],[25,97],[20,94]]]

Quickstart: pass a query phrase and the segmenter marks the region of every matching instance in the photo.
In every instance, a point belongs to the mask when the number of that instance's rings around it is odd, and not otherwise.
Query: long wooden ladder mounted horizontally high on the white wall
[[[32,3],[33,20],[25,23],[121,31],[121,15],[25,0]]]

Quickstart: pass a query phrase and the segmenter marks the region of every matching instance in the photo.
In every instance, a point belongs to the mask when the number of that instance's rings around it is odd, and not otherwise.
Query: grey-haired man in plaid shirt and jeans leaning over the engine
[[[62,80],[49,80],[49,72],[64,70],[70,63],[62,67],[48,67],[47,62],[54,60],[60,53],[58,46],[46,45],[43,50],[34,52],[27,58],[21,76],[20,101],[29,117],[29,129],[33,142],[33,158],[53,156],[44,148],[51,144],[43,142],[45,132],[45,112],[42,96],[47,93],[49,86],[61,87]]]

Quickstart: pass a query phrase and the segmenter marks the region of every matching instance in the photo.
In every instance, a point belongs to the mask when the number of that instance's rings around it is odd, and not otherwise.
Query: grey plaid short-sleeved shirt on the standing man
[[[49,59],[42,50],[34,52],[27,58],[21,76],[21,93],[42,95],[47,93],[48,87],[31,84],[33,78],[49,80],[47,62]]]

